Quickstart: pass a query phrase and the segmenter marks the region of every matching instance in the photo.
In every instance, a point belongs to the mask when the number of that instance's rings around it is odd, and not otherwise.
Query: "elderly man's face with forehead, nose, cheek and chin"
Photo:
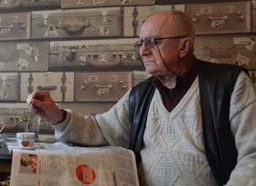
[[[162,38],[174,36],[171,34],[170,26],[158,23],[157,18],[148,18],[140,28],[140,39],[145,40],[148,37]],[[157,40],[159,50],[156,47],[146,47],[143,43],[140,47],[140,56],[143,58],[144,66],[149,74],[155,76],[164,76],[172,74],[171,71],[176,71],[178,61],[178,41],[179,39],[161,39]],[[161,58],[161,55],[162,58]],[[163,61],[165,61],[165,64]]]

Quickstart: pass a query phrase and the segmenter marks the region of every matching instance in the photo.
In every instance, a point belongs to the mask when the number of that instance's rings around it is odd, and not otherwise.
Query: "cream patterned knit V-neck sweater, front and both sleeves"
[[[102,115],[81,116],[67,110],[67,119],[53,127],[56,138],[80,145],[129,146],[129,92]],[[229,186],[256,185],[256,91],[244,73],[238,77],[230,102],[231,131],[238,164]],[[198,78],[172,112],[156,90],[143,136],[140,185],[217,185],[203,145]]]

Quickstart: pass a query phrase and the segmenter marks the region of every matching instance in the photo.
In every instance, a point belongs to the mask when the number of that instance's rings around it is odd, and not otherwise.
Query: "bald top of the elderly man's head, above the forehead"
[[[195,29],[193,28],[191,18],[181,11],[157,12],[148,16],[143,25],[147,23],[154,23],[159,31],[166,31],[168,36],[195,38]]]

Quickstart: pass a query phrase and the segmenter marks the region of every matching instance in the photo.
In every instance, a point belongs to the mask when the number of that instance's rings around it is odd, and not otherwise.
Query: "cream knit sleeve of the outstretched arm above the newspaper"
[[[116,145],[129,147],[129,92],[108,112],[78,115],[66,109],[67,118],[53,125],[56,139],[81,146]]]

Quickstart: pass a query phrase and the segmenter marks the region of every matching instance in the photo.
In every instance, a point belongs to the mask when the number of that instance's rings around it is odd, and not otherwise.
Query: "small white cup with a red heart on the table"
[[[19,147],[31,147],[34,146],[36,139],[35,133],[17,133],[17,142]]]

